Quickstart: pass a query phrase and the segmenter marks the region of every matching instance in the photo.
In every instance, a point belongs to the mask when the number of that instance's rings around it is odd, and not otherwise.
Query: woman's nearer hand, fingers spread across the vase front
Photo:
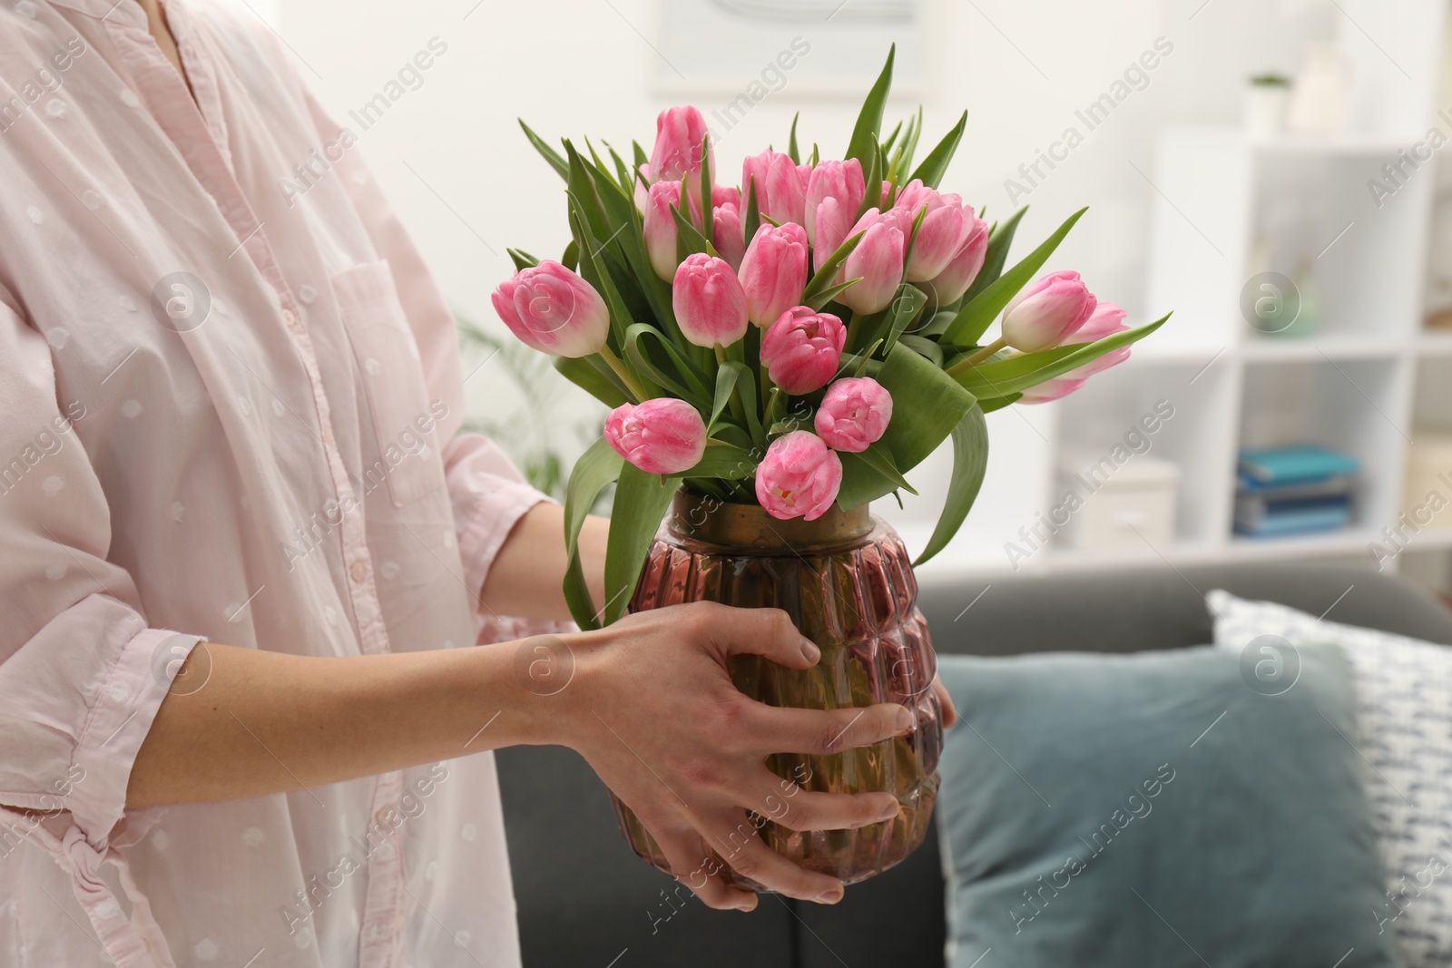
[[[768,848],[746,811],[793,830],[841,830],[897,816],[889,792],[809,792],[767,769],[771,753],[839,753],[905,736],[902,705],[832,711],[780,708],[742,695],[733,655],[809,669],[820,653],[775,608],[711,602],[629,615],[608,628],[559,636],[574,656],[569,685],[539,697],[562,742],[636,813],[671,871],[710,907],[751,910],[720,862],[802,900],[835,904],[842,882]],[[526,640],[529,641],[529,640]],[[950,707],[951,708],[951,707]]]

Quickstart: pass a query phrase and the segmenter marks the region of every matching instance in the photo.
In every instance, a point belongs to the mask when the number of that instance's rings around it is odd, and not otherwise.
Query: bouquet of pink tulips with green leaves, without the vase
[[[662,112],[633,164],[568,139],[560,154],[524,125],[566,183],[572,241],[559,261],[510,250],[518,271],[494,306],[614,408],[566,491],[565,595],[581,627],[624,612],[678,488],[810,521],[916,493],[903,473],[951,437],[926,560],[983,482],[983,415],[1072,393],[1165,322],[1128,328],[1077,273],[1034,279],[1083,210],[1005,271],[1024,209],[989,225],[938,192],[967,113],[916,167],[921,110],[880,138],[892,68],[889,54],[844,160],[813,145],[803,161],[793,122],[787,151],[746,158],[741,187],[717,184],[694,107]],[[597,611],[576,540],[611,482]]]

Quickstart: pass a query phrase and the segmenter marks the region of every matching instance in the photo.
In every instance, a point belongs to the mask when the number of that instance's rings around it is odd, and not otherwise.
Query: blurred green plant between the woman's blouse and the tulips
[[[559,403],[571,385],[555,372],[550,357],[517,340],[501,340],[460,312],[454,312],[454,325],[459,328],[465,373],[472,374],[484,366],[498,367],[508,374],[520,399],[518,406],[510,411],[466,417],[463,428],[497,443],[533,488],[563,501],[569,466],[590,443],[600,438],[604,415],[563,427]],[[569,451],[559,441],[562,427],[574,431],[566,441],[574,437],[571,443],[578,444]],[[608,505],[604,498],[607,495],[603,495],[603,502]]]

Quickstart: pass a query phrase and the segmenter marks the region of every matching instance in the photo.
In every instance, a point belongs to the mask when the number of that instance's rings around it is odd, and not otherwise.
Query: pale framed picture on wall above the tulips
[[[799,93],[861,97],[892,42],[897,44],[893,89],[921,90],[926,83],[925,0],[659,4],[662,93],[719,91],[759,102],[790,84]]]

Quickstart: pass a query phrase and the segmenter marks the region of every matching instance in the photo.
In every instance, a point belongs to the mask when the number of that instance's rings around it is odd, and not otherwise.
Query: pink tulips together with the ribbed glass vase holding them
[[[967,113],[916,167],[921,109],[880,136],[892,70],[889,52],[842,160],[815,145],[803,158],[793,120],[787,151],[746,158],[739,187],[717,183],[694,107],[662,112],[653,151],[636,144],[632,163],[608,145],[608,161],[588,142],[560,152],[521,122],[565,180],[572,238],[559,261],[510,250],[518,271],[494,293],[520,340],[613,408],[566,488],[565,596],[581,627],[682,601],[780,607],[822,660],[797,672],[733,659],[743,692],[915,711],[906,737],[768,763],[806,789],[899,797],[896,820],[849,832],[754,814],[774,849],[845,882],[900,861],[931,819],[942,727],[912,567],[977,496],[983,415],[1073,392],[1165,322],[1128,328],[1077,273],[1034,279],[1083,210],[1005,270],[1024,210],[987,225],[938,192]],[[910,563],[868,504],[916,493],[905,475],[950,438],[948,496]],[[576,541],[610,483],[594,602]],[[629,805],[616,808],[635,850],[669,871]]]

